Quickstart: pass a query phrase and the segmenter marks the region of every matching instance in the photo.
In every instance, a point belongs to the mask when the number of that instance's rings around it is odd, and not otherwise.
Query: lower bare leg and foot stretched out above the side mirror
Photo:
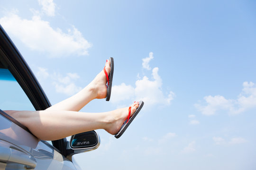
[[[138,102],[131,105],[131,116],[138,108]],[[77,111],[10,111],[10,116],[25,125],[42,140],[57,140],[77,133],[105,129],[115,135],[128,117],[128,108],[102,112],[85,113]]]

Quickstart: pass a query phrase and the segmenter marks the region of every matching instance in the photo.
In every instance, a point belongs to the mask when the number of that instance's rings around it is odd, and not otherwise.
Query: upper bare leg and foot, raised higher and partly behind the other
[[[106,71],[110,74],[110,61],[107,60]],[[74,94],[68,99],[59,102],[46,110],[69,110],[79,111],[88,102],[93,99],[103,99],[107,96],[107,78],[103,70],[91,81],[89,85],[84,87],[80,92]]]

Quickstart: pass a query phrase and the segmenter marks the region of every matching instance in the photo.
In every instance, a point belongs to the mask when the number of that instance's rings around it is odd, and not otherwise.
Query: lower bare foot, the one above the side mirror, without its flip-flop
[[[139,102],[134,102],[131,105],[130,117],[132,117],[132,115],[135,113],[138,107]],[[111,111],[111,113],[108,114],[108,125],[105,128],[105,130],[109,132],[111,135],[117,134],[125,120],[128,118],[128,109],[129,107]]]

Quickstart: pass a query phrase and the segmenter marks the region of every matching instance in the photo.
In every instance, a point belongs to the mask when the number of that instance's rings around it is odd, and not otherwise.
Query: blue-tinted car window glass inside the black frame
[[[0,68],[0,109],[35,110],[26,93],[7,68]]]

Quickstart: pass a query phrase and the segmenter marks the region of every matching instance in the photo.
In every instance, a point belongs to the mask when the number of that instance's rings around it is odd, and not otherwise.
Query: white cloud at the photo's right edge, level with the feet
[[[256,107],[256,86],[254,83],[244,82],[242,92],[237,99],[226,99],[221,95],[205,96],[206,105],[194,106],[204,115],[214,115],[218,110],[228,110],[230,114],[238,114]]]

